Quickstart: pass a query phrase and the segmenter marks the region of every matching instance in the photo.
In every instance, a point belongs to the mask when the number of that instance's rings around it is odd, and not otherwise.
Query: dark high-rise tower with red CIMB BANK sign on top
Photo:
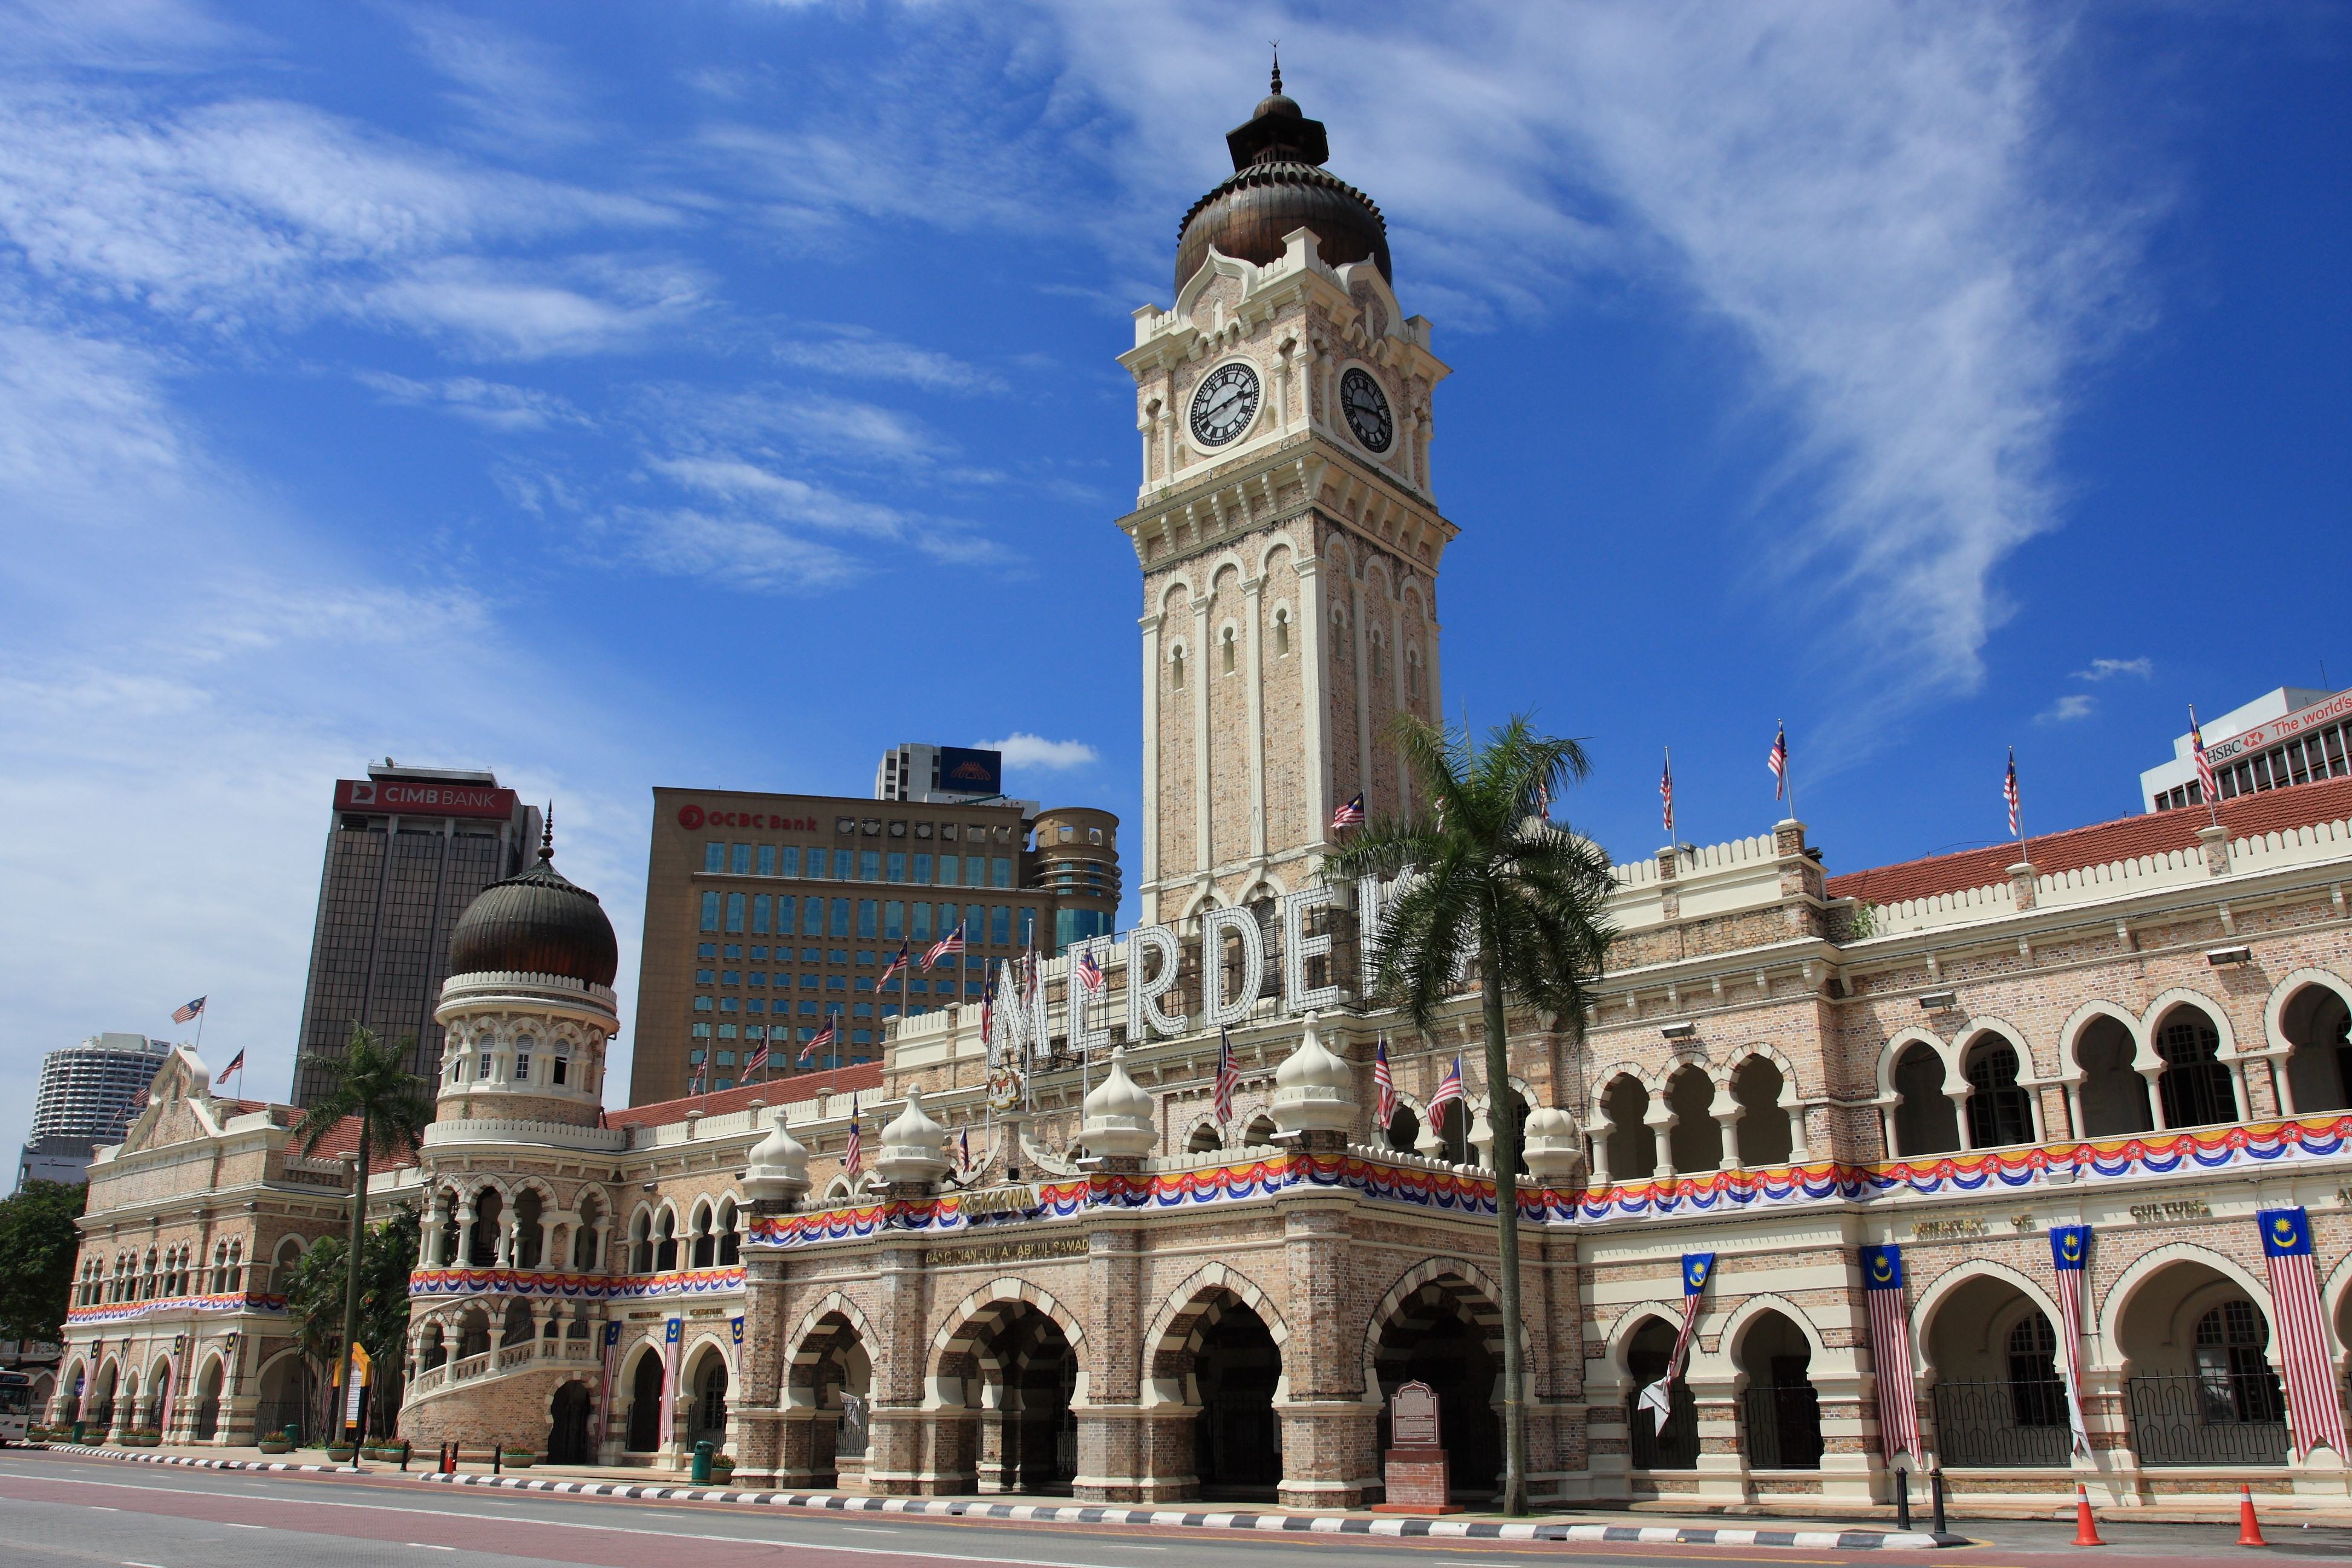
[[[318,1063],[343,1053],[353,1023],[388,1041],[414,1037],[412,1070],[440,1079],[433,1004],[449,971],[449,929],[482,889],[529,863],[539,827],[539,809],[501,790],[496,773],[386,759],[367,778],[334,783],[294,1105],[320,1095]]]

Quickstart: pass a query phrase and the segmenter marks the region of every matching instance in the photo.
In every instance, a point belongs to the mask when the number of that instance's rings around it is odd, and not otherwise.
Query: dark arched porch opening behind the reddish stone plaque
[[[1388,1403],[1406,1382],[1437,1394],[1437,1436],[1456,1500],[1494,1497],[1503,1479],[1503,1342],[1494,1302],[1458,1274],[1406,1295],[1381,1324],[1374,1373],[1381,1382],[1376,1446],[1388,1450]]]

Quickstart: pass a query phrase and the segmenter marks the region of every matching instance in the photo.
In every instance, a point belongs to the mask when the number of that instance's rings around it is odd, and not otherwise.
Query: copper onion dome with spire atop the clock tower
[[[1331,143],[1322,120],[1308,120],[1282,96],[1282,61],[1275,61],[1275,89],[1258,103],[1247,125],[1225,132],[1232,153],[1232,179],[1192,202],[1176,237],[1176,289],[1209,259],[1214,244],[1228,256],[1265,266],[1282,259],[1282,235],[1294,228],[1315,230],[1315,254],[1324,266],[1345,266],[1367,256],[1381,277],[1388,270],[1388,223],[1371,197],[1348,181],[1327,174]]]

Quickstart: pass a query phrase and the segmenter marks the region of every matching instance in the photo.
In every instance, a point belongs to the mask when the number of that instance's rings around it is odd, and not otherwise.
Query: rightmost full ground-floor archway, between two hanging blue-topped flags
[[[2140,1465],[2284,1465],[2286,1401],[2270,1321],[2227,1272],[2178,1258],[2117,1314],[2124,1408]]]

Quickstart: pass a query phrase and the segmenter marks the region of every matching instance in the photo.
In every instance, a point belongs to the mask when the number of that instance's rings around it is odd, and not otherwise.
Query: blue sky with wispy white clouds
[[[1853,870],[2352,677],[2333,5],[14,0],[0,1143],[198,992],[285,1093],[367,757],[553,797],[626,997],[656,783],[1131,816],[1112,355],[1268,38],[1456,371],[1446,703],[1613,853],[1780,717]]]

